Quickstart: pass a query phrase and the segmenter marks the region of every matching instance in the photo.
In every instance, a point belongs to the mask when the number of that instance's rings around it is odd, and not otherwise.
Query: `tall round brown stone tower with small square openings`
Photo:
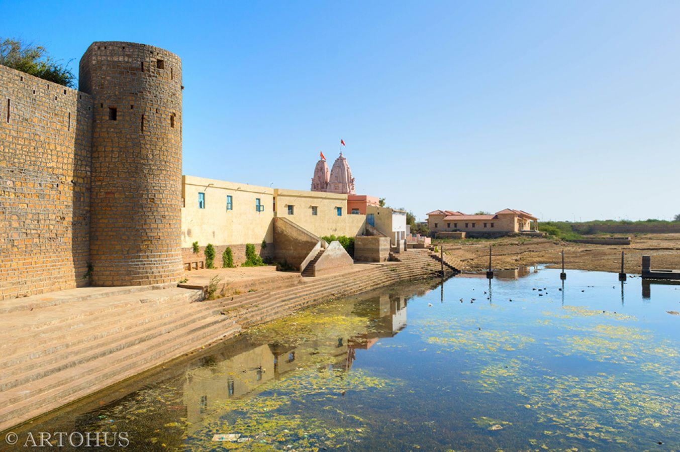
[[[179,280],[182,61],[144,44],[95,42],[79,83],[93,102],[92,283]]]

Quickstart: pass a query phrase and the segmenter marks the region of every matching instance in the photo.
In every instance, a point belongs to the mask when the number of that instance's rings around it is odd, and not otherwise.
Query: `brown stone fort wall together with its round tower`
[[[95,42],[80,91],[0,66],[0,300],[182,277],[182,63]]]

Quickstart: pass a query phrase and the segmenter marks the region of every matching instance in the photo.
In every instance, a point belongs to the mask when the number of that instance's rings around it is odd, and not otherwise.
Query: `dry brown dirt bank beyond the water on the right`
[[[630,245],[585,245],[550,239],[504,237],[478,241],[433,240],[444,252],[462,262],[462,270],[479,271],[488,267],[489,245],[492,267],[498,270],[522,265],[561,266],[564,249],[565,268],[618,272],[621,251],[625,251],[626,273],[641,273],[642,256],[651,256],[652,268],[680,269],[680,234],[640,234]]]

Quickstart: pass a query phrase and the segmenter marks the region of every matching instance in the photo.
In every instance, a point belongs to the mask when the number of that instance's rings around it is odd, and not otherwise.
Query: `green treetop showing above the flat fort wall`
[[[68,65],[52,60],[42,46],[27,44],[19,39],[0,38],[0,65],[35,75],[48,82],[73,88],[75,75]]]

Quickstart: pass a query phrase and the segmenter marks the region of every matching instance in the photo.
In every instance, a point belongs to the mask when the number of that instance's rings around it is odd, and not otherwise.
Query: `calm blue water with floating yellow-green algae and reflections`
[[[496,275],[333,300],[30,430],[145,451],[680,449],[680,285]]]

